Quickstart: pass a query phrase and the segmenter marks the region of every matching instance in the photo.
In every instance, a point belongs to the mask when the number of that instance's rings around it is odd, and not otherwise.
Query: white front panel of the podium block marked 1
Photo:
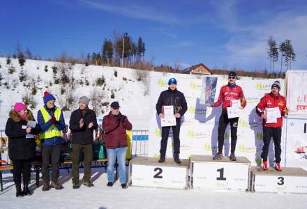
[[[193,162],[193,188],[246,191],[248,173],[249,164]]]

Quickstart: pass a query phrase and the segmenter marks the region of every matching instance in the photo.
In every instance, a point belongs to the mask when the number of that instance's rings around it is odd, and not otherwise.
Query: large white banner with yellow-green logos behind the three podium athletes
[[[188,111],[181,118],[180,130],[180,157],[188,158],[190,155],[214,155],[218,146],[218,121],[221,107],[207,108],[201,104],[202,77],[199,75],[181,75],[171,73],[151,72],[151,114],[149,124],[149,157],[160,155],[161,124],[156,114],[156,102],[162,91],[167,90],[167,81],[171,77],[177,79],[177,89],[184,93],[188,103]],[[227,77],[217,78],[216,92],[227,84]],[[283,86],[283,79],[278,79]],[[263,146],[262,118],[257,116],[255,106],[265,93],[271,92],[271,84],[276,79],[248,79],[238,80],[237,84],[243,88],[246,97],[246,108],[240,111],[237,139],[237,156],[248,157],[253,165],[260,164]],[[281,89],[283,94],[283,88]],[[218,100],[218,93],[214,101]],[[230,155],[230,127],[224,135],[225,143],[223,154]],[[167,157],[172,157],[172,128],[167,143]],[[274,164],[273,143],[269,148],[269,160]]]

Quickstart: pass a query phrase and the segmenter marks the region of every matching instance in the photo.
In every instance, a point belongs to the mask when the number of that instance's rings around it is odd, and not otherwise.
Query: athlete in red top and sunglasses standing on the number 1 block
[[[212,104],[207,104],[208,107],[218,107],[223,102],[222,114],[220,114],[220,121],[218,123],[218,153],[214,155],[214,160],[223,159],[223,146],[224,146],[224,134],[228,123],[230,123],[231,132],[231,150],[230,160],[236,161],[234,156],[237,144],[237,130],[239,118],[228,118],[227,107],[231,107],[232,100],[241,100],[241,109],[246,107],[246,100],[242,88],[236,84],[237,73],[230,72],[228,74],[228,84],[220,88],[220,94],[218,95],[218,101]]]

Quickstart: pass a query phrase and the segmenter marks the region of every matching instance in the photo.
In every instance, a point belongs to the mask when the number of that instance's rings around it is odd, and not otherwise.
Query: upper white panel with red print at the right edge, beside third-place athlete
[[[287,70],[287,107],[291,114],[307,115],[307,72]]]

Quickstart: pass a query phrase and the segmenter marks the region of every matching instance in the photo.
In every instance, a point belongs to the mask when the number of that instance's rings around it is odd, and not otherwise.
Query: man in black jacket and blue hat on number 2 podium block
[[[174,106],[174,116],[176,117],[176,125],[172,126],[174,137],[174,161],[178,164],[181,162],[179,159],[180,153],[180,125],[181,116],[186,113],[188,106],[186,104],[186,98],[184,93],[177,90],[177,80],[171,78],[168,81],[169,88],[166,91],[160,93],[158,102],[156,104],[156,111],[160,118],[164,118],[163,106]],[[162,139],[160,144],[160,160],[159,162],[165,162],[165,154],[167,147],[168,134],[170,133],[170,126],[162,127]]]

